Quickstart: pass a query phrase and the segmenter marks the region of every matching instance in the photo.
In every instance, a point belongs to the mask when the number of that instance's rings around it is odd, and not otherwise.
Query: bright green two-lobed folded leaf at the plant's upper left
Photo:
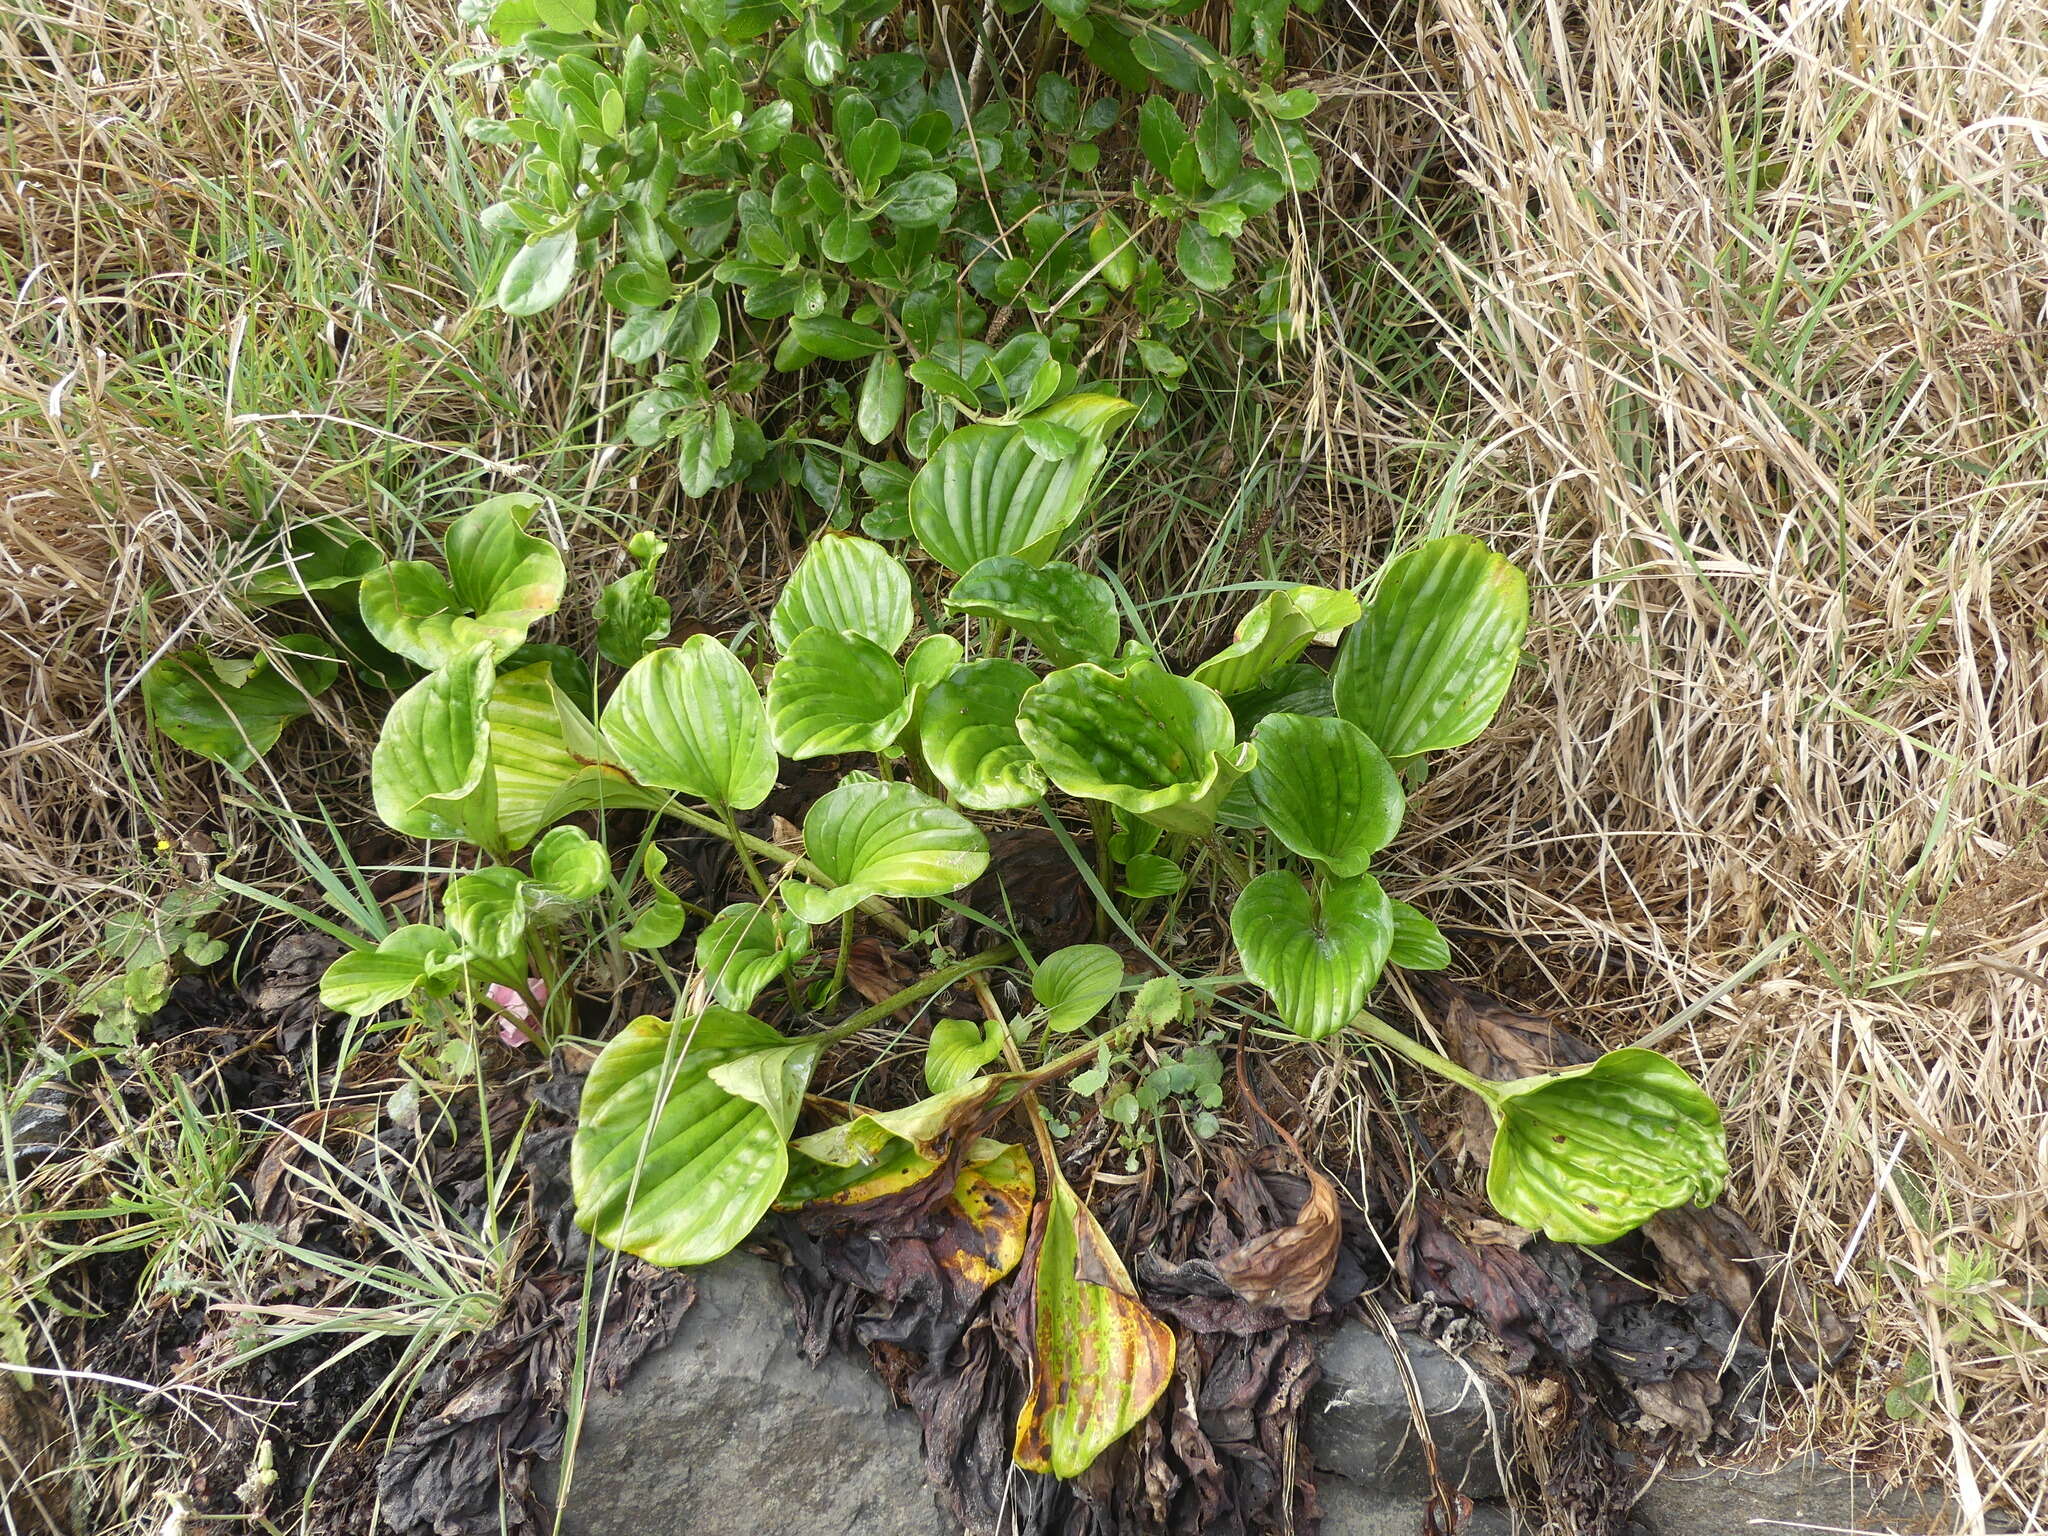
[[[541,502],[494,496],[449,524],[449,573],[399,559],[362,578],[362,623],[387,649],[440,668],[473,645],[502,662],[526,631],[555,612],[565,571],[561,551],[526,532]]]

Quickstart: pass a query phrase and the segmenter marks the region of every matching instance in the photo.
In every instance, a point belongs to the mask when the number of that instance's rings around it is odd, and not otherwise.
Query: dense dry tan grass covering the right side
[[[1405,489],[1327,496],[1354,549],[1444,496],[1544,592],[1432,866],[1520,1001],[1683,1020],[1653,1032],[1724,1098],[1739,1204],[1864,1315],[1786,1436],[2042,1522],[2048,8],[1331,25],[1372,59],[1337,84],[1395,90],[1329,125],[1315,266],[1378,297],[1335,299],[1368,317],[1303,416]],[[1346,250],[1389,217],[1448,246]],[[1364,356],[1372,305],[1436,322],[1448,420]]]

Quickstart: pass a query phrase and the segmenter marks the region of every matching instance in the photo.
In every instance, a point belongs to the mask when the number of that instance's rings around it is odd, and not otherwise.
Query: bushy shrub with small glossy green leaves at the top
[[[539,315],[590,274],[641,371],[621,430],[674,442],[690,496],[801,485],[899,535],[913,465],[961,426],[1036,418],[1063,459],[1071,428],[1038,414],[1112,336],[1151,420],[1186,334],[1292,334],[1284,266],[1239,244],[1319,176],[1315,96],[1270,84],[1284,12],[1239,0],[1225,53],[1063,0],[1065,55],[997,88],[895,0],[471,4],[520,76],[510,117],[469,125],[514,152],[492,299]]]

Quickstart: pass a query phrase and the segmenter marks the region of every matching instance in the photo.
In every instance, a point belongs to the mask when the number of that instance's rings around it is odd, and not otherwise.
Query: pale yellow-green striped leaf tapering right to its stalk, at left
[[[485,719],[498,831],[506,848],[524,848],[541,827],[578,811],[645,811],[668,799],[635,784],[612,762],[612,745],[561,690],[549,662],[498,678]]]

